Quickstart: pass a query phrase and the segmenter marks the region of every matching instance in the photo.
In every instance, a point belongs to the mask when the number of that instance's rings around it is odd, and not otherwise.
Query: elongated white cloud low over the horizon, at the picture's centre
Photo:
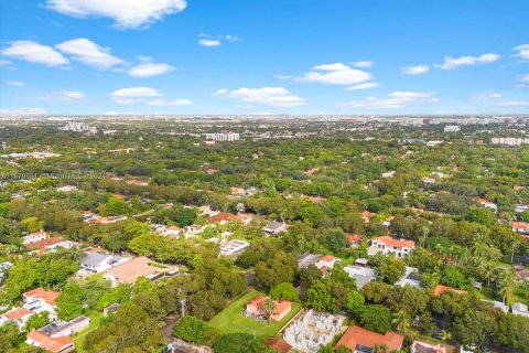
[[[257,103],[272,107],[299,107],[305,104],[305,98],[292,95],[284,87],[218,89],[213,94],[236,98],[242,103]]]

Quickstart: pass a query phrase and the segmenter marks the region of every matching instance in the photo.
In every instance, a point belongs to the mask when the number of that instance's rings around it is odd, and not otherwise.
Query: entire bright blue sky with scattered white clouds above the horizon
[[[4,113],[529,113],[527,0],[0,7]]]

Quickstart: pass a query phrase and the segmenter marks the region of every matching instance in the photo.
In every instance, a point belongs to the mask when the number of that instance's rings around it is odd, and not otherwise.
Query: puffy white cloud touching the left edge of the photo
[[[32,41],[12,42],[1,51],[1,54],[48,66],[61,66],[68,63],[68,60],[53,47]]]

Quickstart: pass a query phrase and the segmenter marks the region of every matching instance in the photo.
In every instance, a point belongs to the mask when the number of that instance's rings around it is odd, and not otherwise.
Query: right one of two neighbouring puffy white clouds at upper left
[[[72,55],[74,60],[83,64],[100,69],[108,69],[125,63],[123,60],[112,56],[109,49],[101,47],[84,38],[62,42],[55,45],[55,47],[63,53]]]

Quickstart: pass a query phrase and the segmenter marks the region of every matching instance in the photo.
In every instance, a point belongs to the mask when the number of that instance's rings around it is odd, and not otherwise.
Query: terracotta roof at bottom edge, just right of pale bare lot
[[[395,332],[379,334],[365,330],[360,327],[350,327],[336,344],[336,349],[345,345],[353,352],[369,352],[376,345],[386,345],[391,351],[398,351],[402,347],[404,336]]]

